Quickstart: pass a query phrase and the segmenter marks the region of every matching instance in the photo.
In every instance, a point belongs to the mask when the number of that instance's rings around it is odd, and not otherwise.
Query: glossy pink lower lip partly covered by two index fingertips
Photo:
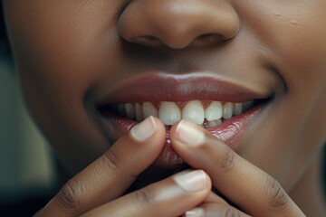
[[[206,128],[206,130],[215,137],[223,140],[227,146],[236,150],[241,144],[244,144],[241,142],[241,138],[245,135],[249,125],[253,123],[254,118],[258,116],[261,109],[262,108],[259,106],[255,107],[239,116],[226,120],[221,125],[209,127]],[[107,110],[102,112],[101,115],[104,116],[105,128],[110,132],[110,137],[113,138],[113,140],[126,134],[132,127],[139,123],[129,118],[120,117]],[[166,133],[165,146],[154,162],[154,165],[163,168],[178,168],[185,165],[185,162],[177,156],[171,146],[168,130]]]

